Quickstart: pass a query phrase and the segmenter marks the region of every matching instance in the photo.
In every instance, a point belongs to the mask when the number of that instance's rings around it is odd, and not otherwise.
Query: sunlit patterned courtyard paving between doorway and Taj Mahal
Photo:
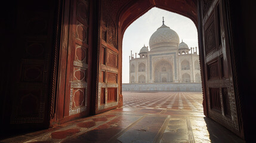
[[[123,92],[124,107],[203,112],[202,92]]]

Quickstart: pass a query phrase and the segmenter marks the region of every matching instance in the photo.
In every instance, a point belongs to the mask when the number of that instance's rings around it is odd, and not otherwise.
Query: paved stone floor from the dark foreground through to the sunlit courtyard
[[[201,92],[123,92],[124,107],[0,142],[243,142],[203,115]]]

